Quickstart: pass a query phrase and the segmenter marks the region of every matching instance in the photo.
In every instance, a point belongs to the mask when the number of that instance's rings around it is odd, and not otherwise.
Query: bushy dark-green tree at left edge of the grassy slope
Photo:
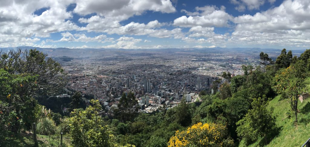
[[[266,141],[266,135],[276,127],[276,117],[272,116],[273,108],[268,109],[265,99],[253,99],[252,109],[237,122],[238,136],[244,139],[246,144],[256,141],[258,136],[264,137]]]

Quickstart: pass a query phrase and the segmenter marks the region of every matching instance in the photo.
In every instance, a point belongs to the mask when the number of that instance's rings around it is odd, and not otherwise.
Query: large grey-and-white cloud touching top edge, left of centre
[[[172,13],[176,9],[170,0],[77,0],[73,12],[80,15],[95,13],[91,18],[80,18],[81,23],[87,23],[82,30],[103,31],[108,28],[120,27],[120,21],[134,15],[142,15],[145,11]]]

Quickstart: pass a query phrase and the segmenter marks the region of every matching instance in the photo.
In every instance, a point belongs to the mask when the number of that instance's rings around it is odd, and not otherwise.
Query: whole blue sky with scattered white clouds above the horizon
[[[0,48],[310,48],[310,0],[0,0]]]

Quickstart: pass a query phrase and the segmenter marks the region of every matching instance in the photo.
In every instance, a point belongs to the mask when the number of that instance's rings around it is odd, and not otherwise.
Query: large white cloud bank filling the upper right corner
[[[304,46],[310,37],[310,1],[286,0],[255,15],[234,18],[237,24],[229,42]]]

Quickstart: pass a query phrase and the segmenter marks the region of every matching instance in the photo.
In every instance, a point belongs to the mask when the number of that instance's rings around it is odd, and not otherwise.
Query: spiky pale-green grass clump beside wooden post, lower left
[[[56,126],[53,120],[42,118],[37,125],[37,132],[41,135],[52,135],[56,131]]]

